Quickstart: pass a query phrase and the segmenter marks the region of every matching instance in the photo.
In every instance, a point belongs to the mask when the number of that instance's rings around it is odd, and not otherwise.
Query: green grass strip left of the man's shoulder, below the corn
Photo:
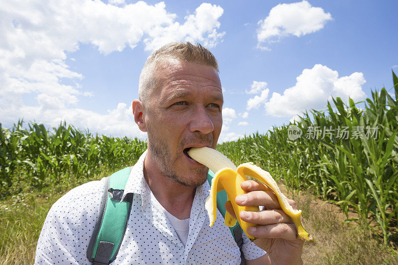
[[[74,179],[0,200],[0,265],[33,264],[36,244],[51,205],[67,191],[84,182],[109,176],[103,169],[96,177]]]

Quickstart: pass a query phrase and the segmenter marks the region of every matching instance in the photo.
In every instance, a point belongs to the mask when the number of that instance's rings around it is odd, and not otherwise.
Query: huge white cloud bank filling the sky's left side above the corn
[[[132,111],[125,103],[101,115],[79,108],[79,98],[93,96],[79,84],[83,76],[70,69],[67,54],[93,44],[102,54],[131,49],[143,42],[151,51],[170,41],[198,41],[209,48],[222,41],[218,18],[223,9],[202,3],[184,21],[164,2],[123,4],[123,0],[1,1],[0,120],[18,118],[56,125],[62,119],[104,133],[128,133]],[[120,5],[119,5],[120,4]],[[70,58],[74,61],[74,58]],[[69,80],[74,85],[64,85]],[[24,96],[37,100],[26,105]],[[124,104],[124,105],[123,105]],[[56,110],[56,111],[54,111]],[[116,115],[117,118],[112,115]],[[133,126],[134,125],[134,126]],[[132,127],[133,126],[133,127]],[[135,129],[134,129],[135,128]]]

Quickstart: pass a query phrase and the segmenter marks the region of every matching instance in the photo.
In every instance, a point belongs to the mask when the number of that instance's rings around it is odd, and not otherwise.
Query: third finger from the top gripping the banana
[[[241,211],[239,216],[245,222],[258,225],[270,225],[278,223],[293,224],[292,218],[290,218],[283,210],[263,210],[258,212]]]

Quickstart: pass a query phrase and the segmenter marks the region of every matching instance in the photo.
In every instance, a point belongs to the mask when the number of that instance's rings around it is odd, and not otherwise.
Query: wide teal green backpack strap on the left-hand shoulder
[[[130,168],[105,177],[100,214],[87,249],[93,265],[108,265],[116,259],[131,210],[132,196],[121,197],[130,175]]]

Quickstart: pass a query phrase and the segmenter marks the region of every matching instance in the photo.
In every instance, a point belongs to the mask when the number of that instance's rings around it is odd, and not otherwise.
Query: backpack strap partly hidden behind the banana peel
[[[208,170],[207,173],[207,181],[208,184],[211,187],[211,179],[214,177],[214,173],[211,170]],[[221,190],[217,192],[217,209],[218,211],[222,214],[222,216],[225,218],[225,202],[227,202],[227,192],[225,190]],[[242,246],[243,246],[243,238],[242,238],[242,228],[240,228],[239,223],[236,222],[235,226],[229,228],[231,230],[231,234],[233,239],[236,242],[236,245],[238,245],[239,250],[240,250],[240,258],[241,258],[241,265],[246,264],[246,260],[243,256],[243,251],[242,251]]]

